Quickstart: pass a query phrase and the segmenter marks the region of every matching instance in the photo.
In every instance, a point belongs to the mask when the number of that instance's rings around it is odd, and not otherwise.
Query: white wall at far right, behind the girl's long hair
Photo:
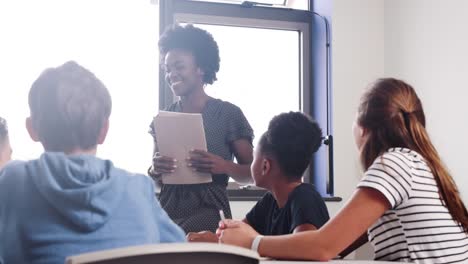
[[[468,204],[468,1],[386,0],[385,74],[413,85],[427,129]]]

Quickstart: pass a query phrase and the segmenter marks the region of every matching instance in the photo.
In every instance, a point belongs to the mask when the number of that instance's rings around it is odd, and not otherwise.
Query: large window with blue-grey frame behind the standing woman
[[[323,50],[326,45],[319,38],[312,45],[315,15],[305,10],[212,2],[219,1],[160,2],[161,30],[174,22],[191,23],[208,30],[218,42],[219,80],[206,88],[207,93],[238,105],[254,128],[256,140],[274,115],[286,111],[312,115],[328,136],[328,86],[321,81],[327,78],[321,74],[326,72],[326,65],[320,61],[326,57]],[[313,52],[324,55],[316,56]],[[314,65],[313,61],[320,65]],[[175,98],[160,80],[163,108]],[[330,151],[330,147],[322,147],[304,175],[304,180],[316,184],[324,196],[332,195]],[[255,188],[239,188],[231,183],[230,194],[247,197],[261,194]]]

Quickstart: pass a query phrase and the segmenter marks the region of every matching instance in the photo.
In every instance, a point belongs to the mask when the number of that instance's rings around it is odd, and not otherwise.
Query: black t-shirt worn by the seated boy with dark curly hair
[[[247,213],[246,219],[262,235],[284,235],[302,224],[312,224],[318,229],[330,217],[322,196],[314,186],[302,183],[289,194],[283,208],[278,208],[270,192],[266,193]]]

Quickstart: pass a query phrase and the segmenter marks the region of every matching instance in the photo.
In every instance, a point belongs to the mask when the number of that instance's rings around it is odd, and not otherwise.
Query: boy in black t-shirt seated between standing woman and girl
[[[327,207],[302,175],[321,145],[315,121],[299,112],[275,116],[262,135],[251,165],[255,185],[269,192],[247,213],[244,222],[262,235],[283,235],[319,229]],[[189,241],[217,241],[213,233],[190,233]]]

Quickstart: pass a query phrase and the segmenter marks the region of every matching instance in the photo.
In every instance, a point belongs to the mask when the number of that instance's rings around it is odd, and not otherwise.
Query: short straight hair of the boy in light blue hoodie
[[[32,126],[46,151],[88,150],[98,144],[112,108],[109,91],[74,61],[46,69],[29,91]]]

